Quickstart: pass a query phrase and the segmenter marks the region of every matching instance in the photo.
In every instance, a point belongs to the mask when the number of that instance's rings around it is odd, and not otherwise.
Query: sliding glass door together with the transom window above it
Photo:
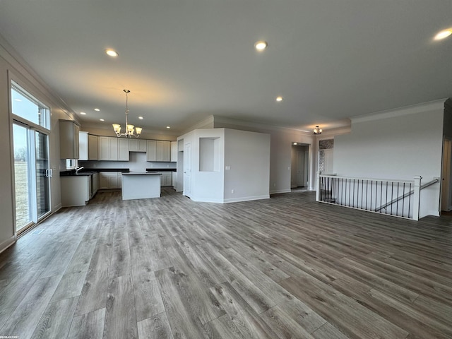
[[[49,109],[15,83],[11,99],[15,227],[20,233],[50,212]]]

